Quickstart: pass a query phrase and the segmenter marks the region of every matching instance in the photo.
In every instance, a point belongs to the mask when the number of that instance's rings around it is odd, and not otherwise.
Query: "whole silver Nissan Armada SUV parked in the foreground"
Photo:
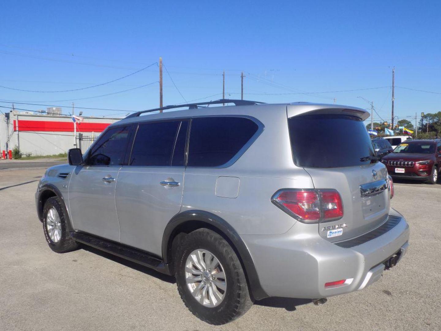
[[[209,107],[222,103],[235,105]],[[244,100],[133,113],[41,178],[46,241],[58,253],[82,243],[175,275],[185,305],[211,324],[265,297],[321,304],[361,290],[409,239],[368,117]]]

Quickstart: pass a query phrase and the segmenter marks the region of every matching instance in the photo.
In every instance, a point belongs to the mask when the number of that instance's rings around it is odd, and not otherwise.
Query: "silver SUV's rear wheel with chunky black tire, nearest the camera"
[[[188,234],[175,256],[176,284],[187,308],[206,323],[221,325],[253,305],[233,248],[216,232]]]

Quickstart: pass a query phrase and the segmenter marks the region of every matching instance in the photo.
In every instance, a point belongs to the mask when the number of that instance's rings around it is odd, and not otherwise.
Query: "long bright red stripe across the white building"
[[[103,132],[110,123],[76,123],[77,132]],[[14,131],[17,126],[14,120]],[[19,120],[19,131],[37,132],[74,132],[74,122],[59,122],[46,120]]]

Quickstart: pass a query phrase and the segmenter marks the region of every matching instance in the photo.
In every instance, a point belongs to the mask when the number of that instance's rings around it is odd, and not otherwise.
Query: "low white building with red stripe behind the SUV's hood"
[[[53,155],[66,153],[82,137],[85,149],[108,125],[121,118],[83,117],[74,123],[68,115],[34,115],[14,110],[0,113],[0,155],[17,145],[23,154]],[[76,125],[76,138],[74,137]],[[87,142],[87,143],[86,143]],[[84,144],[86,143],[86,144]],[[83,152],[85,150],[82,150]]]

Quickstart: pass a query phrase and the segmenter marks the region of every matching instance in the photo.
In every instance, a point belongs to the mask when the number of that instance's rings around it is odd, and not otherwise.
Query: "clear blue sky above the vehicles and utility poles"
[[[164,105],[221,98],[222,70],[227,97],[240,98],[243,70],[246,99],[333,103],[336,98],[339,104],[369,107],[361,96],[374,102],[375,120],[390,120],[395,66],[400,119],[441,110],[438,1],[4,1],[0,9],[4,87],[89,87],[162,56],[182,94],[164,70]],[[0,100],[30,110],[45,106],[17,102],[63,105],[64,113],[75,102],[124,110],[82,109],[85,115],[125,115],[158,106],[157,81],[154,64],[86,90],[0,87]],[[366,90],[337,92],[357,89]],[[325,91],[332,92],[296,94]]]

